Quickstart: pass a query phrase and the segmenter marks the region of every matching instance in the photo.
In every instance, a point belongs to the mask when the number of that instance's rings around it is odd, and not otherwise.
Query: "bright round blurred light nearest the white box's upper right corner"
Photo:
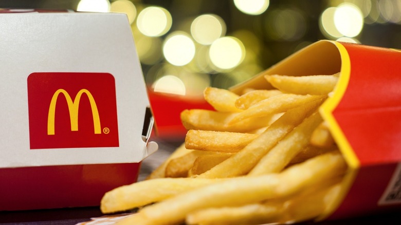
[[[150,6],[139,13],[136,24],[144,35],[161,36],[170,30],[172,18],[165,8]]]

